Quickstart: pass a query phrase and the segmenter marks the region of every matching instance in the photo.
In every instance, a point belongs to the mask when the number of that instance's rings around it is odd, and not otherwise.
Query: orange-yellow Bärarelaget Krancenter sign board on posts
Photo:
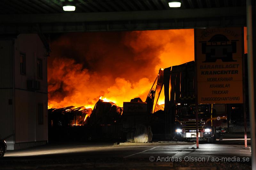
[[[243,103],[243,27],[195,29],[199,104]]]

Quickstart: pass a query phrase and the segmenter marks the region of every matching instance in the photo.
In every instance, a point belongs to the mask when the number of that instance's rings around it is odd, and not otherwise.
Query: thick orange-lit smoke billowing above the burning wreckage
[[[48,58],[49,106],[145,101],[160,67],[194,60],[193,39],[189,29],[61,35]]]

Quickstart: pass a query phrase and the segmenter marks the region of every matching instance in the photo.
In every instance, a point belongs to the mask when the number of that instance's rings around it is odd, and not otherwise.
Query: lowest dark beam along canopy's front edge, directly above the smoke
[[[162,19],[140,21],[108,21],[108,22],[71,22],[71,23],[42,23],[42,24],[0,24],[1,34],[21,33],[64,33],[89,31],[135,31],[159,29],[184,29],[204,27],[244,27],[246,17],[223,17],[209,19]],[[38,29],[39,27],[39,29]]]

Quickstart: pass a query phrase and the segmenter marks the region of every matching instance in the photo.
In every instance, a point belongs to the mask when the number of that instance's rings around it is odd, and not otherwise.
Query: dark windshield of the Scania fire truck
[[[177,114],[179,117],[194,117],[196,111],[195,104],[188,105],[178,105],[177,106]],[[207,104],[199,104],[198,105],[198,116],[199,117],[208,117],[210,115],[209,107]]]

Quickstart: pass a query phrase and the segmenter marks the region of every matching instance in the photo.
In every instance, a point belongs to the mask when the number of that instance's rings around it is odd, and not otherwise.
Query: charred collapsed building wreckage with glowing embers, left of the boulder
[[[49,109],[49,140],[119,139],[123,109],[99,99],[93,110],[81,107]]]

